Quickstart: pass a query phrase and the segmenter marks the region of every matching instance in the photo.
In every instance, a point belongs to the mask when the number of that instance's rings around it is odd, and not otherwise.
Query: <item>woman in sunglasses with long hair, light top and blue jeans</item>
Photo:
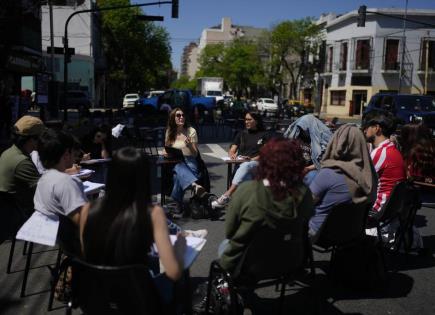
[[[174,186],[171,194],[172,199],[177,202],[178,212],[182,212],[184,191],[191,187],[196,195],[201,196],[205,189],[196,183],[200,176],[196,161],[199,152],[198,136],[196,130],[189,126],[185,113],[178,107],[169,114],[165,146],[183,152],[184,161],[174,167]],[[167,152],[164,155],[167,155]]]

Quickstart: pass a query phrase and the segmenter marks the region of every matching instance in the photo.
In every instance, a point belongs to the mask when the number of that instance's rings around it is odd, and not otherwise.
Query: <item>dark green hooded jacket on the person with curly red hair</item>
[[[296,198],[288,194],[276,201],[262,181],[248,181],[237,188],[226,215],[225,233],[229,244],[220,258],[225,270],[234,270],[255,232],[263,226],[284,232],[288,223],[297,217],[308,222],[314,213],[311,192],[304,185],[297,190]]]

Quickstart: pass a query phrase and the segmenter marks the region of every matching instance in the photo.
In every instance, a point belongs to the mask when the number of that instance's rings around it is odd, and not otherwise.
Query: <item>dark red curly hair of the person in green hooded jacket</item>
[[[274,198],[282,200],[302,183],[304,166],[298,140],[271,139],[260,150],[256,178],[267,179]]]

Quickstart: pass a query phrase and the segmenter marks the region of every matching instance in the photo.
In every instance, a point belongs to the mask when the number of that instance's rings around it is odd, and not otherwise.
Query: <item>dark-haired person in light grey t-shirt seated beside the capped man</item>
[[[35,210],[69,217],[80,222],[80,212],[87,198],[80,179],[65,173],[74,162],[74,139],[63,131],[47,130],[38,143],[38,152],[46,172],[38,181]]]

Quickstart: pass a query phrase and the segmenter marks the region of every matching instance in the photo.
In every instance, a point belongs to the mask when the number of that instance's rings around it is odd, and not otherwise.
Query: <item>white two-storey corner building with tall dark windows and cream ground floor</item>
[[[402,60],[402,9],[367,9],[365,27],[357,11],[328,19],[322,110],[360,115],[378,92],[398,92]],[[408,10],[408,19],[435,24],[435,10]],[[435,27],[407,22],[401,93],[435,94]],[[426,45],[428,43],[428,45]],[[426,49],[427,47],[427,49]],[[426,55],[427,63],[426,63]]]

